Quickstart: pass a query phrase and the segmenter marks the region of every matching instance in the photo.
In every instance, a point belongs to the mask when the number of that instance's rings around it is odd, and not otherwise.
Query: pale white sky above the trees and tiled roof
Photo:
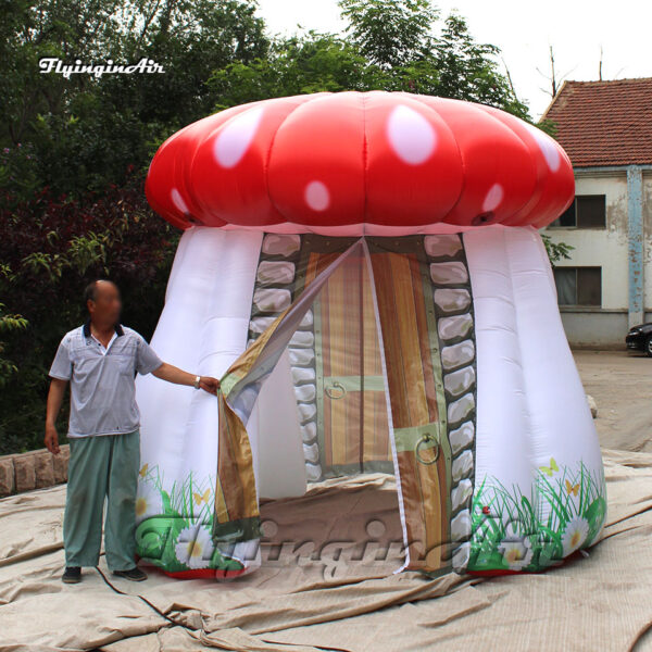
[[[652,2],[650,0],[440,0],[447,16],[467,20],[476,40],[498,46],[522,101],[539,117],[550,103],[550,46],[557,80],[652,77]],[[259,0],[272,33],[304,29],[339,32],[337,0]],[[500,62],[502,70],[504,66]],[[537,71],[540,71],[538,72]]]

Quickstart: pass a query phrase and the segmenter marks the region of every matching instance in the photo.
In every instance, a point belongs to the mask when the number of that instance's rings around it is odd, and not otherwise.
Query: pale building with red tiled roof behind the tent
[[[575,248],[554,271],[566,335],[624,346],[652,321],[652,78],[566,82],[543,118],[575,170],[575,201],[544,231]]]

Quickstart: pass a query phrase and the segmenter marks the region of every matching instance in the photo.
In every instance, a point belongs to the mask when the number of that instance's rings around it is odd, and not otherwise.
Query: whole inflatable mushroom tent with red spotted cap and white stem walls
[[[259,497],[365,471],[396,474],[406,568],[590,546],[602,461],[537,233],[573,193],[539,129],[409,93],[254,102],[164,142],[147,195],[185,233],[152,343],[223,391],[138,380],[141,557],[244,573]]]

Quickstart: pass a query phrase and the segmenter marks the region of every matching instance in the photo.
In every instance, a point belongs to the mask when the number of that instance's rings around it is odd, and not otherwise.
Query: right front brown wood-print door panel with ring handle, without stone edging
[[[428,266],[418,249],[369,242],[402,488],[410,567],[449,563],[450,449]],[[403,244],[403,243],[402,243]],[[416,252],[415,252],[416,250]],[[410,250],[409,250],[410,251]]]

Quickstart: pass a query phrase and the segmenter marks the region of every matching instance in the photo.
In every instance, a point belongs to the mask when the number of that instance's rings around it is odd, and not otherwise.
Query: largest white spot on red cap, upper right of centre
[[[387,122],[387,137],[396,154],[410,165],[418,165],[430,158],[437,145],[432,125],[414,109],[401,104]]]

